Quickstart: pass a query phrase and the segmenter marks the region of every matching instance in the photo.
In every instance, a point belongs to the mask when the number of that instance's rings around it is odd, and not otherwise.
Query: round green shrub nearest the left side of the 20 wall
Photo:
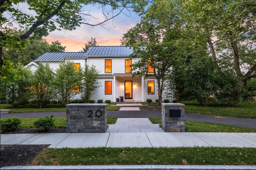
[[[50,130],[54,126],[55,120],[53,119],[53,116],[54,115],[52,114],[51,117],[40,117],[34,121],[34,126],[40,131]]]

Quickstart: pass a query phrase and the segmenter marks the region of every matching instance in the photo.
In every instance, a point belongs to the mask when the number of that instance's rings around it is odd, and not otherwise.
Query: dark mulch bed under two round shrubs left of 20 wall
[[[17,129],[10,132],[1,132],[1,134],[24,134],[24,133],[66,133],[66,128],[51,128],[51,130],[39,131],[37,128]]]

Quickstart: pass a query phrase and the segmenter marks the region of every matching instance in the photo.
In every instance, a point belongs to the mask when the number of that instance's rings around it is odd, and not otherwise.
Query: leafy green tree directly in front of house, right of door
[[[122,39],[122,45],[133,47],[133,54],[129,58],[139,58],[132,64],[133,76],[156,78],[158,104],[162,102],[165,75],[169,74],[174,64],[185,58],[189,38],[181,33],[183,24],[180,11],[175,8],[173,1],[157,1],[148,7],[141,22],[124,34]],[[148,73],[148,65],[154,73]]]

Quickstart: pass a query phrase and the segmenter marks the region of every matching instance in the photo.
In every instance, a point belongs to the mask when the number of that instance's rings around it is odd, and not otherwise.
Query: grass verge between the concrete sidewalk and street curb
[[[255,165],[256,148],[47,148],[31,165]]]

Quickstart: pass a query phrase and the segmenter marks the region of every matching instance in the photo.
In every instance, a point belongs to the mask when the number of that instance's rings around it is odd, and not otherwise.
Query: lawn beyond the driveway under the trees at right
[[[183,101],[186,113],[199,113],[215,116],[256,118],[256,103],[236,103],[233,107],[221,103],[211,103],[201,106],[197,102]]]

